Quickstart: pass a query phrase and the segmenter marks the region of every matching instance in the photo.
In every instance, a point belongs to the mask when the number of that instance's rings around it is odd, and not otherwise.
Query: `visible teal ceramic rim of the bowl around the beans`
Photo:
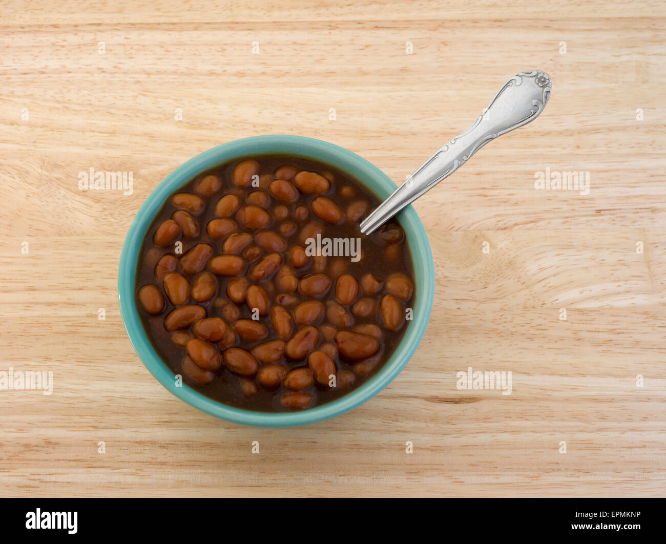
[[[265,154],[284,154],[326,162],[366,185],[382,200],[396,188],[394,182],[386,174],[364,158],[322,140],[302,136],[274,135],[254,136],[218,145],[178,166],[149,194],[137,212],[137,216],[127,232],[121,253],[118,271],[118,298],[123,324],[125,324],[125,330],[127,330],[134,349],[146,368],[166,390],[194,408],[226,421],[258,427],[291,427],[322,421],[356,408],[378,394],[398,376],[416,351],[426,331],[430,310],[432,310],[435,273],[426,231],[414,208],[408,206],[400,212],[398,219],[404,228],[416,273],[414,320],[409,324],[402,342],[380,371],[359,388],[333,402],[304,411],[264,413],[220,404],[186,384],[176,387],[173,372],[153,349],[141,325],[139,312],[135,306],[135,278],[141,244],[153,218],[163,206],[166,198],[180,186],[198,174],[234,158]]]

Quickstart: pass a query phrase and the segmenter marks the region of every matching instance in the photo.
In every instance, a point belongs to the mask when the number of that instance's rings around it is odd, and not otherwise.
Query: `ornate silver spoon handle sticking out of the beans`
[[[361,232],[374,232],[410,202],[453,174],[490,140],[536,119],[548,101],[550,89],[549,75],[539,70],[521,72],[509,79],[470,128],[438,149],[365,218],[360,225]]]

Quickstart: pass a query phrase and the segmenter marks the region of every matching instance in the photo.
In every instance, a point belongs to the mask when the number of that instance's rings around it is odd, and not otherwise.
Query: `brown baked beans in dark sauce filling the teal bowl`
[[[360,234],[378,204],[300,158],[248,157],[197,176],[166,200],[139,256],[137,308],[155,350],[202,394],[255,411],[312,408],[361,386],[414,304],[400,224]],[[349,252],[327,254],[322,240],[336,239]]]

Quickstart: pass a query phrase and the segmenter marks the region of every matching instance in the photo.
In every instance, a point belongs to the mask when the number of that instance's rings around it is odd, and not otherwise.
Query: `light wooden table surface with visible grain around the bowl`
[[[51,371],[53,394],[0,390],[0,495],[663,495],[665,17],[656,0],[3,3],[0,371]],[[141,364],[119,255],[178,164],[286,133],[401,182],[534,68],[553,79],[541,117],[415,204],[434,308],[376,398],[241,427]],[[133,194],[79,190],[89,168],[133,172]],[[589,194],[535,190],[546,168],[589,172]],[[469,367],[511,371],[511,394],[459,390]]]

